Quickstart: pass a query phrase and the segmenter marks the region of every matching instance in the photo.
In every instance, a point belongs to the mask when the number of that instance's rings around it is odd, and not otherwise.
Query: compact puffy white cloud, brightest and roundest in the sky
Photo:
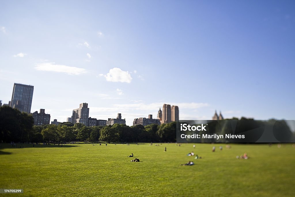
[[[113,68],[109,70],[109,73],[104,75],[108,82],[126,82],[131,83],[132,77],[128,71],[122,71],[119,68]]]

